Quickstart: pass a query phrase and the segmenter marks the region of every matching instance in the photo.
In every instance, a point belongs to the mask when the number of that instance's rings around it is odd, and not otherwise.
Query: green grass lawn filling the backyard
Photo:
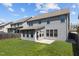
[[[55,41],[48,45],[20,39],[0,40],[2,56],[69,56],[72,54],[71,44],[64,41]]]

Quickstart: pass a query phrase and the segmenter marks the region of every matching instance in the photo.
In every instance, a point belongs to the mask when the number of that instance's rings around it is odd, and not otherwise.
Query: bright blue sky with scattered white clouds
[[[0,22],[16,21],[20,18],[64,8],[70,10],[71,22],[77,23],[79,4],[71,3],[2,3],[0,4]]]

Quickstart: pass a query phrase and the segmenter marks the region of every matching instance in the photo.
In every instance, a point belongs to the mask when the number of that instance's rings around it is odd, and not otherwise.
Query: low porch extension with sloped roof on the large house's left
[[[36,41],[40,37],[44,36],[44,34],[41,34],[41,35],[39,34],[40,30],[42,29],[44,29],[44,26],[31,26],[27,28],[22,28],[20,29],[21,39]]]

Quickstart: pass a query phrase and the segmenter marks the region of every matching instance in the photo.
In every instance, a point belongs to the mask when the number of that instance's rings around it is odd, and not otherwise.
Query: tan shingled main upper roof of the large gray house
[[[54,12],[44,13],[44,14],[32,17],[31,19],[28,20],[28,22],[33,21],[33,20],[42,19],[42,18],[48,18],[48,17],[54,17],[54,16],[58,16],[58,15],[63,15],[63,14],[67,14],[67,13],[69,13],[68,9],[62,9],[62,10],[58,10],[58,11],[54,11]]]

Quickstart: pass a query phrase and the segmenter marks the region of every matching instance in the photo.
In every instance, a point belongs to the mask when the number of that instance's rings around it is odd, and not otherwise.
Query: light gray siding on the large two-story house
[[[65,22],[61,22],[61,19],[59,18],[59,16],[57,16],[56,18],[46,18],[46,19],[40,19],[40,20],[34,20],[31,22],[25,22],[23,24],[23,27],[29,27],[29,23],[32,23],[33,25],[31,26],[45,26],[44,29],[41,30],[37,30],[38,33],[40,33],[40,31],[44,32],[44,36],[43,37],[39,37],[38,39],[55,39],[55,40],[66,40],[68,37],[68,26],[69,26],[69,18],[68,15],[65,15],[65,18],[63,20],[65,20]],[[39,24],[39,21],[41,21],[41,23]],[[47,24],[47,21],[50,21],[49,24]],[[58,30],[58,37],[47,37],[46,36],[46,30]],[[22,36],[21,36],[22,37]],[[26,37],[22,37],[23,39],[27,39]],[[30,40],[35,40],[35,38],[28,38]]]

